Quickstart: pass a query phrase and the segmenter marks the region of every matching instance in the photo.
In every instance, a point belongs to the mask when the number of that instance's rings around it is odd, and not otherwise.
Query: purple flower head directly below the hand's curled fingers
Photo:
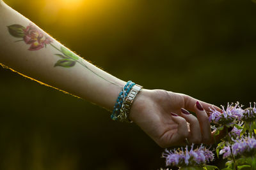
[[[163,157],[166,159],[166,166],[204,166],[214,159],[214,153],[202,145],[193,150],[192,145],[191,150],[188,150],[188,146],[185,150],[165,150]]]

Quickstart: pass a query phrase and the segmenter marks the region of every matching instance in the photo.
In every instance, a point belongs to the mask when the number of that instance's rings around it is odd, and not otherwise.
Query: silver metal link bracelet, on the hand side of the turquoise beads
[[[120,114],[118,115],[118,120],[120,122],[132,123],[132,121],[129,119],[129,113],[135,97],[141,91],[142,88],[143,87],[140,85],[134,85],[129,94],[127,95],[127,97],[125,97],[124,103],[122,104],[122,108],[120,110]]]

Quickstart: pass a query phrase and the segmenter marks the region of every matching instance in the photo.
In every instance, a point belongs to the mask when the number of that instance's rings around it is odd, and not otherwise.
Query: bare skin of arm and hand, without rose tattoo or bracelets
[[[51,45],[33,51],[28,50],[29,45],[22,39],[15,42],[19,39],[13,37],[6,26],[19,24],[27,27],[32,22],[1,0],[0,23],[1,64],[31,80],[86,99],[106,110],[113,110],[125,81],[102,71],[78,55],[79,62],[74,66],[56,66],[60,57],[55,54],[61,53],[63,45],[53,38]],[[211,132],[207,112],[209,107],[219,108],[199,101],[204,108],[201,111],[196,108],[196,101],[185,94],[143,89],[132,104],[130,119],[161,147],[185,145],[185,138],[189,143],[212,143],[214,132]],[[181,108],[193,111],[196,117],[181,113]],[[179,116],[172,116],[171,113]]]

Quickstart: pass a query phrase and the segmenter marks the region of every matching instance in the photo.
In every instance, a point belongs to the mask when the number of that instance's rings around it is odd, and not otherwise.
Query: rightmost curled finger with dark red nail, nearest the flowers
[[[211,143],[212,141],[211,124],[209,122],[208,115],[205,112],[202,104],[200,104],[200,102],[197,101],[194,107],[196,110],[196,117],[200,124],[200,129],[202,133],[202,143],[206,143],[206,144]]]

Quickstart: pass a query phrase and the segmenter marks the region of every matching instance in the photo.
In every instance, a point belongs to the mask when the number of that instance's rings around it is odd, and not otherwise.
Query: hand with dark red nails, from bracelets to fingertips
[[[143,89],[132,104],[130,118],[163,148],[186,145],[186,138],[189,143],[210,144],[214,132],[207,115],[209,107],[220,110],[185,94]],[[216,139],[221,136],[223,132]]]

